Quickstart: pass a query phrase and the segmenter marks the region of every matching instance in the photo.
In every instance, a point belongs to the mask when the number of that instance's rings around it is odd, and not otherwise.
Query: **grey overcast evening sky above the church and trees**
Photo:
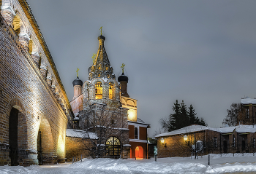
[[[99,28],[116,77],[126,64],[138,117],[151,124],[192,104],[221,127],[231,103],[256,94],[256,1],[27,0],[72,100],[99,48]]]

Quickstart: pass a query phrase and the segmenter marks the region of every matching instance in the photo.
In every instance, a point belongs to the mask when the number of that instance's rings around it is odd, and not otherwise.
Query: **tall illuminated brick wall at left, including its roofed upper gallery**
[[[4,2],[1,5],[7,7]],[[13,0],[13,7],[1,9],[0,15],[0,165],[13,161],[9,157],[9,125],[15,122],[10,118],[17,116],[10,116],[12,108],[18,109],[18,137],[12,139],[18,141],[18,145],[12,145],[18,151],[18,164],[38,164],[39,130],[42,132],[43,162],[64,162],[67,117],[71,116],[71,107],[50,52],[45,44],[40,44],[44,40],[39,36],[37,23],[29,23],[27,17],[30,21],[33,17],[29,16],[26,1],[19,3]],[[17,9],[15,15],[22,21],[20,32],[26,25],[33,47],[29,47],[31,41],[22,40],[26,33],[18,35],[12,28],[13,19],[8,13],[12,8]],[[35,48],[40,52],[40,67],[34,59],[38,53],[31,52]]]

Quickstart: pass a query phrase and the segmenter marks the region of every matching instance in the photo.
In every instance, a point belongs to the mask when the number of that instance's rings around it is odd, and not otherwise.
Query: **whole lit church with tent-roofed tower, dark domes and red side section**
[[[137,158],[146,158],[149,124],[137,118],[137,100],[129,98],[124,68],[123,74],[118,76],[119,83],[116,81],[104,47],[105,36],[101,34],[98,40],[99,49],[89,67],[89,79],[82,82],[77,77],[73,81],[74,98],[70,104],[77,121],[76,128],[87,133],[87,141],[91,139],[89,133],[97,134],[93,141],[99,155],[102,151],[105,156],[113,158],[136,155]]]

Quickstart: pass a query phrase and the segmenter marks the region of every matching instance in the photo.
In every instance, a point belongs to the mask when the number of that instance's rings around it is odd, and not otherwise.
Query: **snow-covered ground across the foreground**
[[[83,159],[83,162],[30,167],[1,166],[0,173],[256,173],[256,154],[211,154],[207,156],[157,159]]]

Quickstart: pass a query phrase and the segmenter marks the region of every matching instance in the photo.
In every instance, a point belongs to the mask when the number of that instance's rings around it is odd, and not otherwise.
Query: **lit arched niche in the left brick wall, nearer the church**
[[[37,134],[37,159],[39,165],[53,164],[56,151],[53,145],[53,135],[47,119],[40,122]]]

